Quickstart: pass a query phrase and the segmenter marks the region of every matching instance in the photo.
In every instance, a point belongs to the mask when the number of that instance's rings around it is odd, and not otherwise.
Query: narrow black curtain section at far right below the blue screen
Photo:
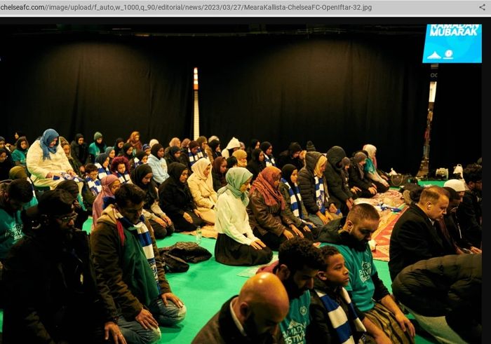
[[[476,163],[482,154],[481,65],[439,64],[429,169]]]

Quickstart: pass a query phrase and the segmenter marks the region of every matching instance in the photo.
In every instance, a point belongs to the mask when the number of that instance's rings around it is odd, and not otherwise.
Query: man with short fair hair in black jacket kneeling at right
[[[389,246],[391,280],[417,261],[455,254],[455,247],[438,223],[447,213],[448,202],[443,188],[429,186],[423,189],[419,202],[413,202],[397,220]]]

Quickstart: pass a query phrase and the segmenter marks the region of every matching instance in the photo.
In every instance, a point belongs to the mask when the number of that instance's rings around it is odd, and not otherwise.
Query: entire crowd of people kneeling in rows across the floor
[[[274,251],[283,252],[270,271],[278,279],[271,275],[264,278],[278,289],[283,283],[290,305],[306,306],[307,317],[301,317],[305,320],[302,343],[316,343],[316,338],[331,338],[332,343],[344,343],[347,338],[371,338],[377,343],[402,338],[401,342],[412,343],[415,329],[379,280],[372,261],[371,267],[357,265],[356,256],[370,258],[367,242],[379,219],[374,209],[360,209],[354,200],[384,193],[389,186],[378,170],[375,146],[365,144],[362,150],[347,155],[341,146],[322,153],[311,142],[309,149],[291,142],[276,159],[271,143],[257,139],[251,140],[245,151],[233,137],[222,151],[217,137],[182,141],[174,137],[164,147],[156,139],[144,144],[140,132],[134,131],[128,139],[118,138],[114,146],[107,146],[101,132],[95,132],[88,145],[81,133],[69,143],[53,128],[36,139],[18,135],[12,142],[0,137],[0,236],[8,238],[0,240],[0,267],[4,266],[5,276],[0,280],[0,291],[35,294],[29,287],[36,284],[34,278],[48,289],[41,301],[29,297],[17,305],[0,298],[5,304],[4,324],[12,330],[5,331],[5,343],[15,343],[14,330],[29,342],[83,343],[90,338],[91,343],[103,343],[111,336],[115,343],[154,343],[161,336],[159,326],[172,326],[186,315],[184,303],[166,280],[155,240],[206,225],[217,232],[215,259],[219,263],[253,266],[269,263]],[[449,254],[481,254],[481,170],[480,165],[470,165],[464,170],[464,181],[451,182],[448,190],[429,188],[422,193],[411,209],[415,214],[426,214],[429,220],[422,216],[428,223],[421,220],[418,228],[422,233],[417,238],[405,236],[405,232],[416,233],[410,211],[401,217],[391,238],[389,270],[394,283],[403,278],[396,279],[401,271],[408,274],[421,268],[420,264],[408,270],[418,261]],[[438,212],[431,207],[439,207]],[[356,212],[351,214],[351,209]],[[449,215],[440,216],[445,212]],[[89,214],[90,238],[81,231]],[[435,240],[443,240],[448,247],[437,252],[436,244],[424,237],[425,226],[444,228]],[[431,254],[418,256],[419,252],[411,251],[411,242],[416,240],[424,241]],[[311,247],[316,241],[337,249]],[[397,249],[401,242],[405,242],[404,249]],[[42,247],[44,243],[49,245]],[[66,254],[50,254],[67,249],[76,252],[76,261]],[[39,256],[32,266],[22,259],[27,250]],[[288,250],[306,250],[301,258],[304,265],[290,261]],[[59,264],[63,271],[53,271],[49,268],[52,264]],[[467,259],[466,264],[477,262]],[[363,270],[368,280],[357,280],[353,271],[357,269]],[[88,276],[87,281],[98,291],[67,283],[65,274],[74,276],[74,272]],[[310,276],[302,286],[292,280],[300,272]],[[135,276],[138,278],[131,278]],[[83,278],[79,283],[83,284]],[[90,302],[72,304],[57,298],[53,293],[63,284],[74,289],[69,293],[83,295],[79,301]],[[55,307],[67,310],[61,318],[46,303],[52,299],[58,302]],[[410,298],[404,301],[415,317],[420,316],[423,326],[430,323],[424,309],[413,305]],[[314,317],[309,318],[309,309],[316,312]],[[72,338],[82,327],[66,320],[78,310],[81,315],[97,312],[97,317],[86,324],[88,331],[83,336]],[[334,325],[339,321],[337,315],[330,315],[334,310],[347,318],[346,332]],[[29,312],[42,316],[31,322]],[[296,316],[283,315],[286,319]],[[388,327],[382,324],[382,317],[390,319]],[[57,323],[60,319],[62,323]],[[274,323],[281,331],[271,334],[292,335],[282,319]],[[455,319],[448,318],[448,323],[455,324]],[[242,335],[253,338],[258,334],[249,330]],[[445,331],[438,336],[444,337]],[[476,331],[462,337],[477,338]],[[452,327],[452,336],[460,334]]]

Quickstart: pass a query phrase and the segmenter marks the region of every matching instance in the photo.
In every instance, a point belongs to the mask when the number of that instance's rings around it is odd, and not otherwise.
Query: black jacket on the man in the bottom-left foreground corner
[[[83,231],[63,240],[51,228],[26,235],[9,252],[4,282],[4,343],[102,343],[115,316],[100,302]]]

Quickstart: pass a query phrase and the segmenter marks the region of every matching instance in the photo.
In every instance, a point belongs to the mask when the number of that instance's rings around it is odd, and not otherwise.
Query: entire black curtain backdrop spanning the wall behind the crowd
[[[174,136],[192,137],[192,71],[199,67],[201,135],[217,135],[222,148],[232,136],[246,145],[257,138],[270,141],[278,156],[290,142],[304,147],[310,139],[318,151],[339,145],[351,156],[370,143],[378,148],[383,170],[416,174],[419,169],[430,74],[429,65],[421,63],[424,33],[0,34],[0,43],[0,112],[6,118],[0,135],[9,142],[15,130],[32,142],[46,128],[69,141],[81,132],[92,142],[100,131],[108,145],[133,130],[141,132],[142,142],[156,138],[164,146]],[[445,95],[444,83],[454,88],[455,80],[468,74],[444,73],[442,67],[431,165],[435,156],[453,161],[445,156],[447,143],[437,146],[438,111],[444,104],[455,109],[448,104],[462,98]],[[479,92],[466,92],[469,98],[462,104],[480,104]],[[467,110],[458,116],[468,116]],[[453,137],[462,130],[448,127],[446,132]],[[480,150],[477,130],[471,139],[462,146]]]

